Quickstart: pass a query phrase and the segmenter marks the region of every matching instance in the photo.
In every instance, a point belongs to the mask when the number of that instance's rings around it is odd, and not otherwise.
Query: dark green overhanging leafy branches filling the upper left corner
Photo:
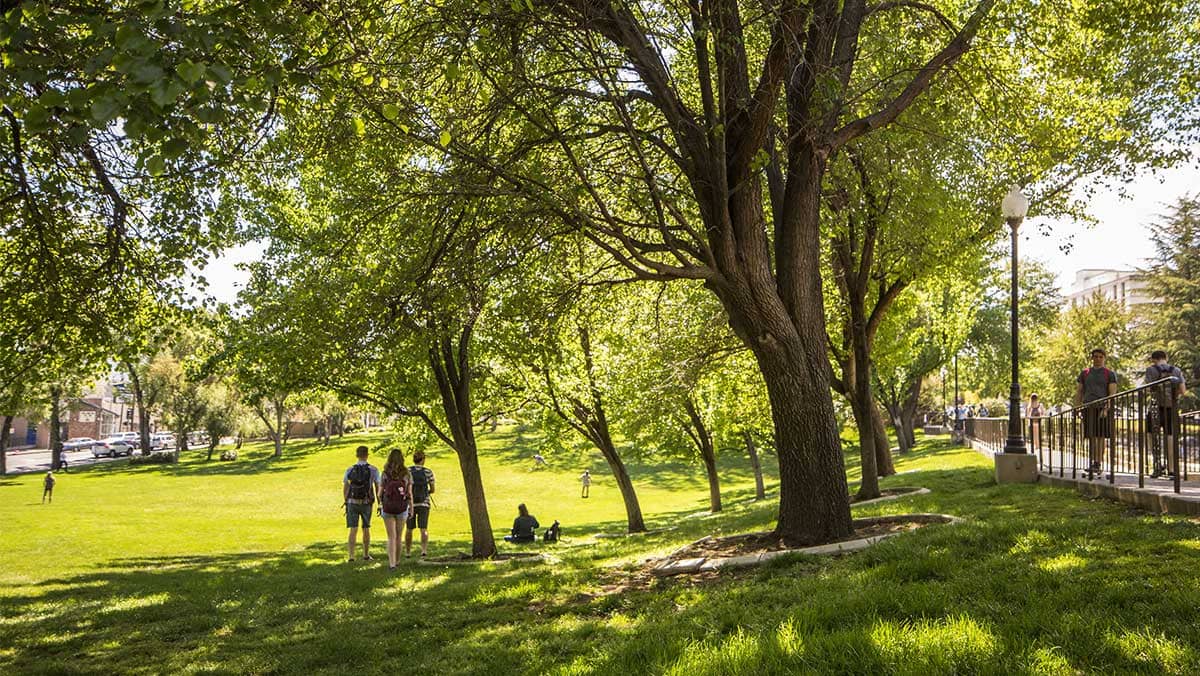
[[[109,327],[226,243],[214,186],[320,67],[283,48],[322,30],[306,13],[0,0],[0,382],[108,357]]]

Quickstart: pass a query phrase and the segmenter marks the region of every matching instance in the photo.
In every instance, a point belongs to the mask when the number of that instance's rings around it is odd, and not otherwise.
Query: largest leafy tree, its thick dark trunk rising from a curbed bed
[[[1175,28],[1186,1],[1146,14],[991,0],[950,14],[862,1],[445,2],[416,24],[352,5],[331,14],[371,22],[376,38],[340,76],[360,85],[361,133],[480,167],[484,185],[544,205],[632,274],[703,280],[718,297],[770,393],[776,532],[796,543],[851,530],[820,276],[829,158],[935,85],[960,88],[940,102],[946,116],[991,122],[972,143],[982,162],[1028,167],[1046,195],[1081,164],[1152,156],[1163,130],[1195,119],[1190,94],[1162,84],[1162,52],[1192,43]],[[1177,42],[1163,42],[1164,26]],[[1080,34],[1084,56],[1069,47]],[[977,36],[1006,47],[972,53]],[[392,80],[412,88],[397,96],[382,84]],[[979,109],[960,104],[972,96]],[[1022,114],[998,113],[1018,103]],[[998,143],[1008,132],[1018,140]]]

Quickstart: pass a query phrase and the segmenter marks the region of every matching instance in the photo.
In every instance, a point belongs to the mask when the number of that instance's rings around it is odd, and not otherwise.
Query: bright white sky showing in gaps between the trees
[[[1094,226],[1031,216],[1021,228],[1021,259],[1045,263],[1057,275],[1058,291],[1064,294],[1075,270],[1144,265],[1154,253],[1150,223],[1181,197],[1200,195],[1200,158],[1158,173],[1144,172],[1127,186],[1126,193],[1127,197],[1103,193],[1092,199],[1088,211],[1098,221]],[[1064,253],[1060,247],[1067,243],[1070,251]],[[264,250],[263,243],[251,243],[229,249],[210,262],[203,270],[209,282],[208,294],[222,303],[234,303],[248,279],[238,264],[259,259]]]

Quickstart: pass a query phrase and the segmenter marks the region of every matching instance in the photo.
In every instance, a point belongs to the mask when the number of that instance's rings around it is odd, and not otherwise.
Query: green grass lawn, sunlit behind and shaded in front
[[[344,562],[340,512],[353,447],[383,439],[294,443],[278,461],[260,447],[234,463],[108,463],[61,477],[47,507],[38,475],[0,479],[0,672],[1200,671],[1196,524],[997,486],[990,461],[942,442],[923,441],[883,481],[931,495],[856,515],[941,512],[965,524],[838,558],[614,591],[630,580],[623,562],[772,526],[774,502],[749,502],[744,460],[726,460],[727,509],[715,516],[701,514],[698,467],[635,465],[650,526],[676,530],[594,539],[624,525],[602,460],[580,450],[534,469],[533,439],[485,435],[497,533],[526,502],[544,524],[564,524],[560,562],[407,563],[390,575],[382,526],[373,564]],[[436,451],[428,465],[431,549],[466,550],[457,463]]]

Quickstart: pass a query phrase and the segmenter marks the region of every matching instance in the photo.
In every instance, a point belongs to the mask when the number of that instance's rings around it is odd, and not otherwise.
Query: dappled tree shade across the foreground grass
[[[598,569],[570,557],[395,575],[378,557],[346,563],[341,543],[134,557],[0,597],[0,669],[1194,672],[1200,570],[1180,540],[1195,526],[1092,503],[1080,519],[1061,493],[1049,518],[1031,504],[1043,496],[1012,515],[1010,496],[978,496],[994,518],[619,594],[595,593]]]

